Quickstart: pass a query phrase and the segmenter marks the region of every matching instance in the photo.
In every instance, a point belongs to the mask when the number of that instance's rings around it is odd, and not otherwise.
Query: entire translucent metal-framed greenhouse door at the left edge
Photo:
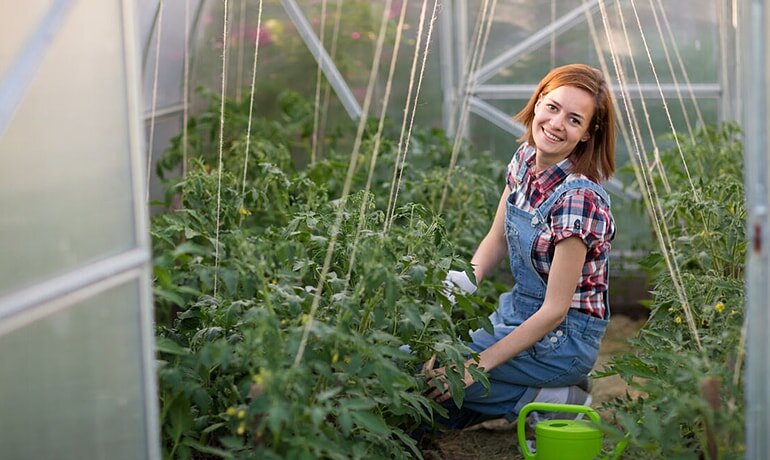
[[[157,458],[131,2],[0,3],[0,456]]]

